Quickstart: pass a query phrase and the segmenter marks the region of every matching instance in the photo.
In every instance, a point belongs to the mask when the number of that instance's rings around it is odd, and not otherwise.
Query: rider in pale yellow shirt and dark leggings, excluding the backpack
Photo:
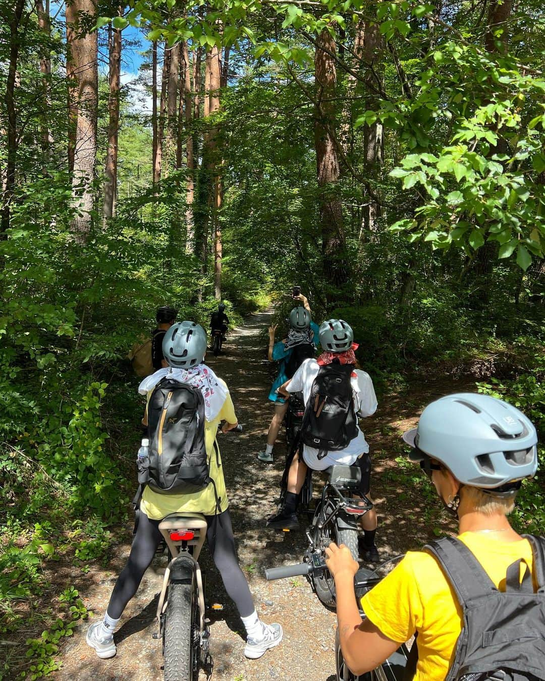
[[[191,333],[186,336],[180,334],[182,340],[176,340],[174,353],[172,335],[178,331],[183,332],[187,326],[191,326]],[[97,656],[101,659],[116,654],[113,633],[125,606],[135,595],[142,576],[155,555],[161,540],[159,522],[170,513],[180,512],[203,513],[206,517],[208,522],[206,540],[212,558],[221,574],[225,590],[234,601],[247,631],[245,656],[258,659],[268,648],[273,648],[281,642],[283,632],[280,624],[264,624],[258,618],[248,583],[238,565],[223,468],[215,442],[219,422],[225,422],[222,430],[227,432],[236,427],[237,419],[227,385],[204,364],[205,352],[206,332],[202,326],[188,321],[176,324],[166,333],[163,341],[163,353],[172,368],[156,371],[140,383],[138,390],[150,396],[153,387],[168,375],[170,379],[189,383],[202,391],[206,452],[210,477],[215,484],[209,484],[204,490],[191,494],[157,494],[149,486],[144,489],[140,502],[138,529],[129,560],[114,586],[103,620],[91,624],[87,632],[87,643],[91,648],[95,648]],[[180,360],[181,357],[183,360]],[[215,447],[218,456],[214,451]]]

